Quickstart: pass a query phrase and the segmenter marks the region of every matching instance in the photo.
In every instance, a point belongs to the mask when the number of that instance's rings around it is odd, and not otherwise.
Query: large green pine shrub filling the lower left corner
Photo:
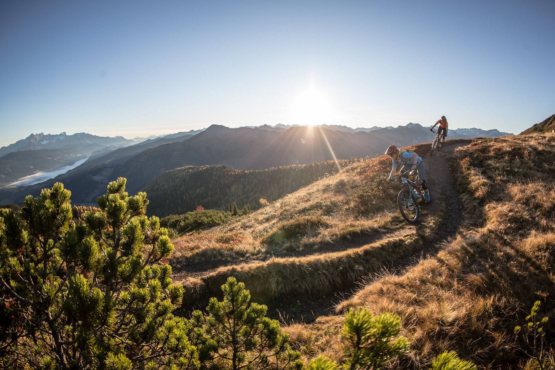
[[[183,288],[161,264],[173,245],[144,192],[108,185],[98,211],[72,221],[63,184],[0,217],[2,368],[192,368],[196,348],[172,311]]]

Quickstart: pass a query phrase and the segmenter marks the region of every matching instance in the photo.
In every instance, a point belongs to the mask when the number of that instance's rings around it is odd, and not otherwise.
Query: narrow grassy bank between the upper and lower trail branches
[[[220,286],[229,276],[245,283],[256,298],[280,295],[321,297],[342,287],[349,287],[371,273],[378,273],[403,257],[421,249],[437,232],[438,214],[425,224],[407,227],[398,235],[361,247],[306,257],[272,257],[264,262],[242,263],[220,267],[203,278],[185,279],[185,291],[202,292],[205,296],[219,295]],[[193,300],[196,293],[188,296]],[[193,302],[186,302],[194,304]],[[186,304],[185,303],[185,304]]]

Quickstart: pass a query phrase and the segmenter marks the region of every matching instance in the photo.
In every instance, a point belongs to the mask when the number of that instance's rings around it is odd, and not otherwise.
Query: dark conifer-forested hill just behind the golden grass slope
[[[340,161],[341,166],[347,164],[348,160]],[[233,202],[239,207],[248,204],[256,209],[260,206],[260,198],[274,201],[336,171],[334,161],[264,170],[235,170],[221,165],[187,166],[158,175],[144,191],[150,201],[149,213],[159,217],[184,214],[198,205],[227,210]]]

